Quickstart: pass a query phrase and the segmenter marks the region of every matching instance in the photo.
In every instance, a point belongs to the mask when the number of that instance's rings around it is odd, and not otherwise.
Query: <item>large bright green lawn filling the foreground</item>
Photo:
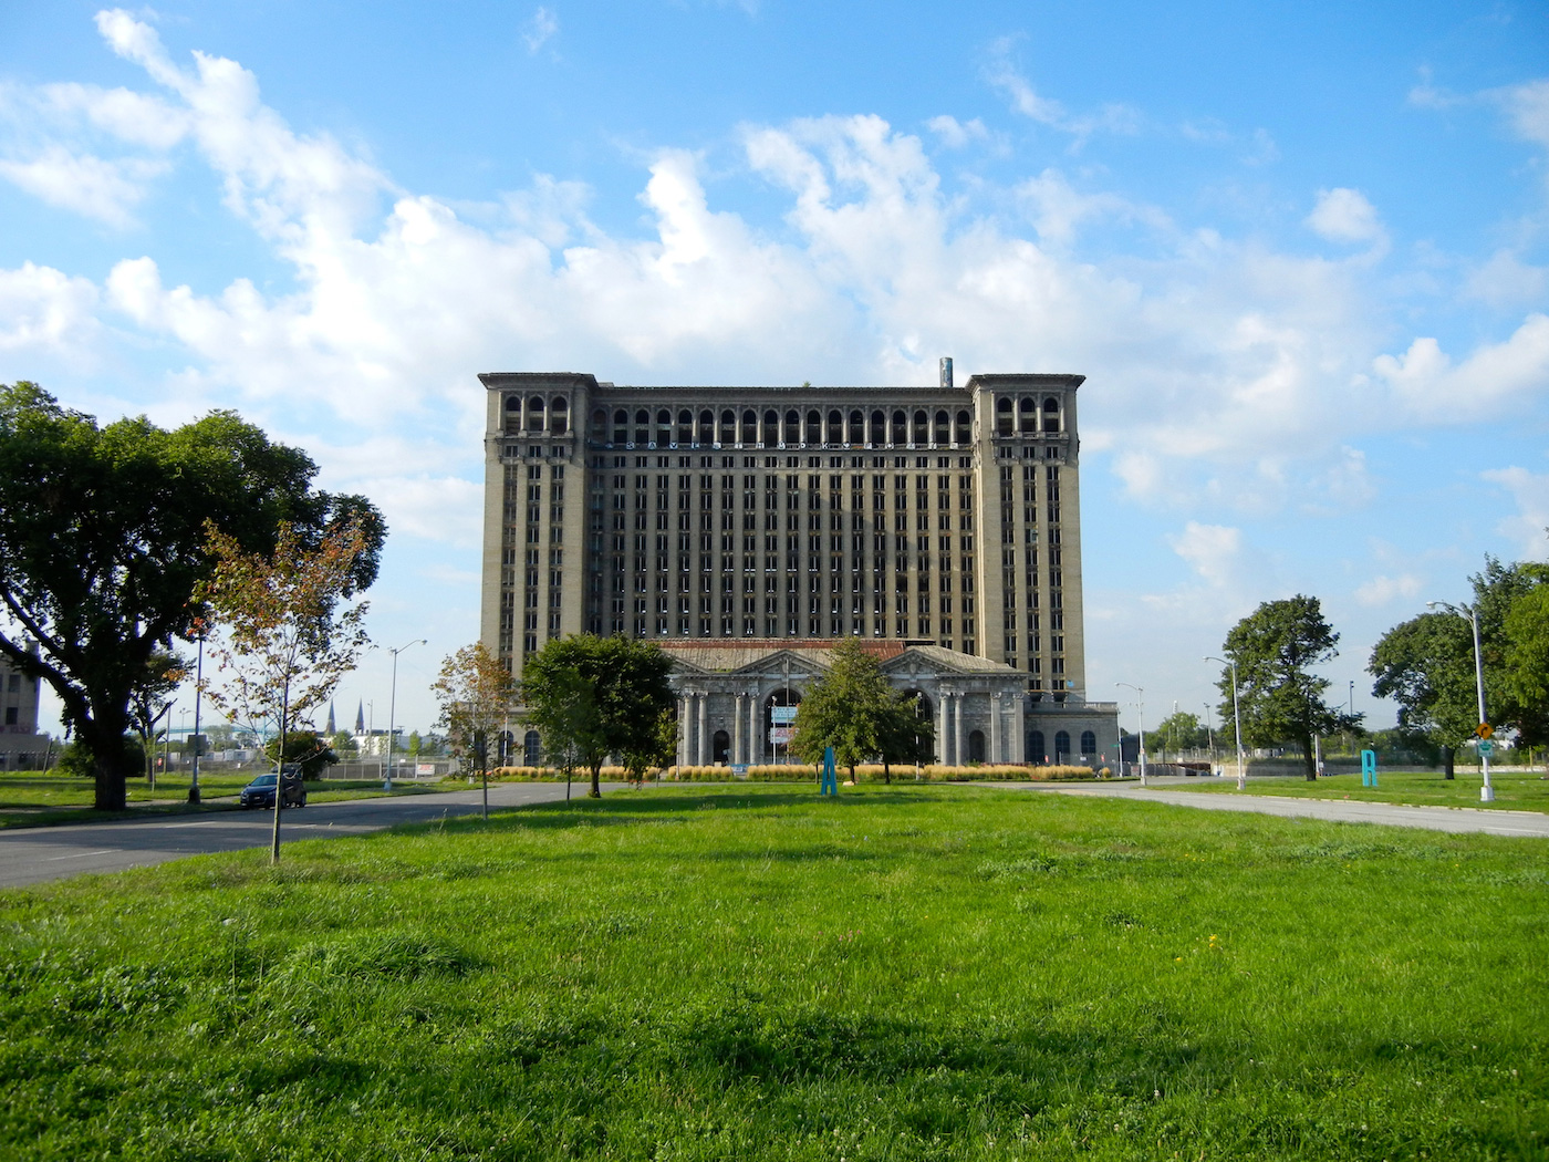
[[[1506,1159],[1549,846],[660,787],[0,892],[0,1157]]]

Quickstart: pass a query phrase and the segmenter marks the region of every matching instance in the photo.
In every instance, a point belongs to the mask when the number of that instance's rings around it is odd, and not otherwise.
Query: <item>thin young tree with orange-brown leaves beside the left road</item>
[[[243,552],[215,525],[208,525],[208,535],[215,570],[200,596],[225,631],[211,654],[229,676],[223,689],[209,691],[211,702],[251,730],[277,725],[285,753],[291,725],[328,700],[369,640],[361,624],[366,603],[339,606],[355,595],[356,562],[372,552],[366,522],[350,519],[316,548],[280,524],[273,556]],[[276,863],[283,801],[276,789],[270,844]]]

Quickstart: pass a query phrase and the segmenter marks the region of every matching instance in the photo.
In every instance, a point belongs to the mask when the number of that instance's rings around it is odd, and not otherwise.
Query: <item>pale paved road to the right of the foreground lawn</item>
[[[1168,786],[1188,786],[1191,782],[1191,779],[1180,778],[1154,778],[1149,782],[1152,784],[1149,787],[1142,787],[1139,781],[1131,779],[1123,782],[1021,782],[1011,786],[1056,795],[1095,795],[1142,799],[1145,803],[1169,803],[1176,807],[1196,807],[1199,810],[1239,810],[1258,815],[1334,820],[1338,823],[1380,823],[1388,827],[1422,827],[1425,830],[1479,832],[1485,835],[1529,835],[1549,840],[1549,815],[1537,812],[1485,810],[1481,807],[1400,807],[1388,803],[1166,790]]]

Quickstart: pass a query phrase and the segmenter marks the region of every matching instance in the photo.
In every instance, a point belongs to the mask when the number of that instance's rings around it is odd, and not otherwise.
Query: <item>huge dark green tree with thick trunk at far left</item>
[[[146,417],[99,426],[31,383],[0,386],[0,655],[42,677],[93,756],[94,804],[124,806],[121,737],[156,651],[206,614],[206,521],[248,552],[280,522],[316,545],[359,517],[369,547],[350,584],[376,576],[383,524],[369,500],[311,486],[318,466],[234,412],[167,431]],[[39,645],[34,657],[26,641]]]

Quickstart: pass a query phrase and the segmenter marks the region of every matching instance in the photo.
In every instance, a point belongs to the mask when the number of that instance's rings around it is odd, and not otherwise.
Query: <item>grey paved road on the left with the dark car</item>
[[[612,790],[604,784],[603,790]],[[578,782],[575,795],[586,795]],[[496,782],[491,807],[551,803],[565,796],[562,782]],[[479,790],[403,795],[381,799],[314,803],[291,807],[280,820],[280,838],[316,840],[364,835],[400,823],[429,823],[443,815],[476,815]],[[73,823],[62,827],[0,830],[0,888],[60,880],[85,872],[115,872],[217,851],[266,847],[274,816],[266,810],[169,815],[130,823]]]

